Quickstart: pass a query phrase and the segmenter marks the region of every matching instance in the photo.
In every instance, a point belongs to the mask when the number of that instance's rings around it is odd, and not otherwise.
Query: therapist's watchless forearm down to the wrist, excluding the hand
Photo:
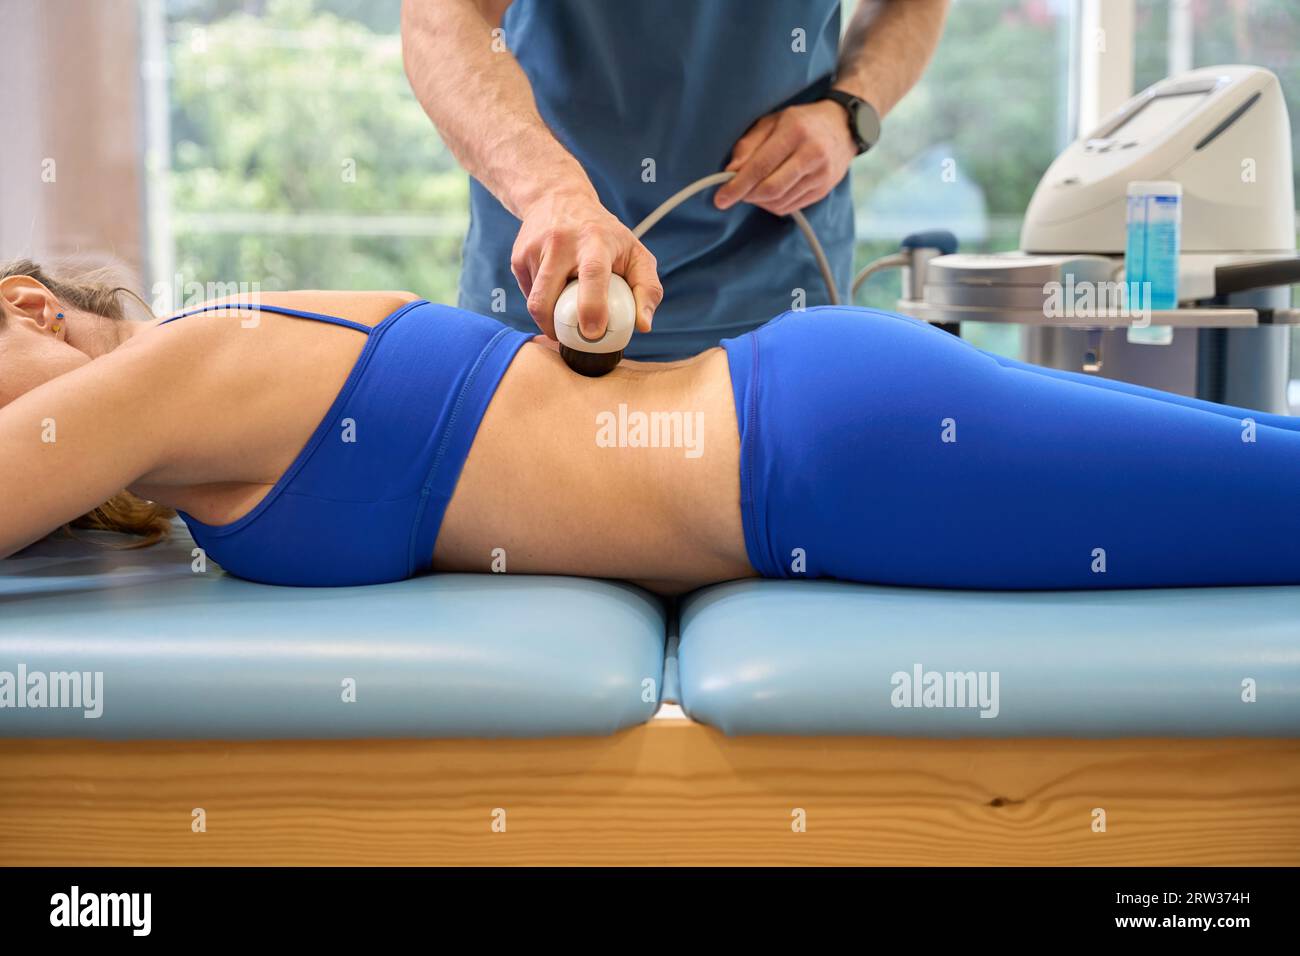
[[[537,112],[533,90],[493,30],[500,0],[403,0],[402,56],[416,99],[465,170],[524,219],[558,191],[595,196],[581,164]]]

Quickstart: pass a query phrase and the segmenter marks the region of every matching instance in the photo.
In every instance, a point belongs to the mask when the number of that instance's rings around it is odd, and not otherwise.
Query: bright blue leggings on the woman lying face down
[[[1300,420],[1004,359],[890,312],[723,342],[766,578],[1300,583]]]

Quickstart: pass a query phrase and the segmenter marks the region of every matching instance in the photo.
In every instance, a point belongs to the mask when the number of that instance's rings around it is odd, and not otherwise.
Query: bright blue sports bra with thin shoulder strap
[[[494,319],[417,300],[374,328],[278,306],[256,310],[355,329],[365,346],[329,411],[256,507],[230,524],[179,512],[226,571],[265,584],[380,584],[426,571],[478,423],[520,346]]]

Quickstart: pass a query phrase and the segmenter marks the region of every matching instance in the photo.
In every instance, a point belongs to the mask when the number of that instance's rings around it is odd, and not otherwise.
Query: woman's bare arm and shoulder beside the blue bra
[[[413,299],[261,297],[372,326]],[[213,311],[142,326],[0,407],[0,558],[124,488],[213,523],[260,501],[337,398],[364,341],[337,326],[265,319]]]

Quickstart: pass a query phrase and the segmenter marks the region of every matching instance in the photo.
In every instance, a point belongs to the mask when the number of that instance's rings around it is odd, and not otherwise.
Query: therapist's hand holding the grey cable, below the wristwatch
[[[728,209],[753,203],[776,216],[824,199],[858,155],[849,116],[838,103],[819,100],[768,113],[732,148],[728,170],[736,178],[714,194]]]

